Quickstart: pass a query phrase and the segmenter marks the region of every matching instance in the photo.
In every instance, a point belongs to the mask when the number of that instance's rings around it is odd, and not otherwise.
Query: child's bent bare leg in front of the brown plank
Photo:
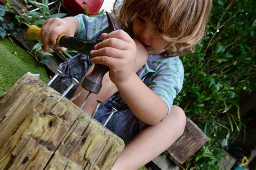
[[[170,147],[184,132],[186,115],[178,106],[159,124],[146,127],[127,146],[113,169],[138,169]]]

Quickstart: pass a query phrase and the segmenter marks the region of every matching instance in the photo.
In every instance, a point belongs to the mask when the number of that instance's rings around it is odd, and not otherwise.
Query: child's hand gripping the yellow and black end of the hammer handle
[[[45,50],[49,50],[50,45],[56,45],[56,39],[61,34],[75,36],[79,28],[78,20],[75,17],[50,18],[46,20],[41,28],[41,40]],[[65,51],[64,47],[57,47],[60,51]]]

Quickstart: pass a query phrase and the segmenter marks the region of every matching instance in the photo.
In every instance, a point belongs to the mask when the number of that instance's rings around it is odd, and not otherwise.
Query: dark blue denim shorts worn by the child
[[[59,70],[62,71],[62,75],[53,82],[51,87],[63,93],[71,84],[72,78],[76,78],[80,82],[91,65],[90,57],[82,54],[69,59],[59,65]],[[67,94],[66,97],[68,99],[72,98],[77,87],[78,85],[74,86]],[[112,115],[106,127],[122,138],[127,144],[146,126],[146,124],[131,112],[118,92],[98,108],[95,119],[99,121],[99,123],[104,124],[112,111],[112,107],[116,108],[117,112]]]

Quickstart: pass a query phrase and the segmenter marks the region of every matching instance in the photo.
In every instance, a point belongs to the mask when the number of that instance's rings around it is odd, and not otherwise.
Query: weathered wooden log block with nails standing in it
[[[30,73],[0,97],[0,169],[110,169],[124,142]]]

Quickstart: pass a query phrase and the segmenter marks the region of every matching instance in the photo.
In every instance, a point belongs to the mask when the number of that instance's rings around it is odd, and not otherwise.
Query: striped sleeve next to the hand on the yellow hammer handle
[[[98,15],[89,17],[84,14],[75,16],[78,19],[79,29],[77,38],[95,41],[100,39],[100,35],[108,32],[109,24],[107,23],[106,15]]]

